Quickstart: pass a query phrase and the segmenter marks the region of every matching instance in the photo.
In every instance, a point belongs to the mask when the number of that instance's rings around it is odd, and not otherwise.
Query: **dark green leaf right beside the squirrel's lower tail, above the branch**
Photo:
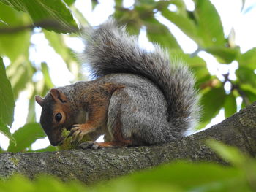
[[[223,107],[225,101],[225,90],[223,87],[211,88],[203,94],[200,104],[202,106],[202,126],[206,126]],[[203,128],[203,127],[200,127]]]

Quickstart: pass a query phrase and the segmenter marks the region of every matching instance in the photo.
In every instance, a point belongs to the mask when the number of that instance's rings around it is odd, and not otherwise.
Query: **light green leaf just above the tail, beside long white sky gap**
[[[146,24],[147,37],[151,42],[162,45],[169,49],[181,49],[176,41],[176,38],[173,37],[173,34],[170,33],[169,29],[159,23],[155,18],[148,19]]]

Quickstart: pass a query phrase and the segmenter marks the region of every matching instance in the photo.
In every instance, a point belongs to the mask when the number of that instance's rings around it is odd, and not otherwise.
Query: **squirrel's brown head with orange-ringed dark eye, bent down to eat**
[[[40,123],[47,134],[50,144],[53,146],[59,145],[64,139],[61,136],[61,131],[65,127],[68,130],[74,124],[71,120],[74,119],[72,104],[67,96],[57,88],[50,89],[50,92],[43,99],[36,96],[35,100],[42,107]]]

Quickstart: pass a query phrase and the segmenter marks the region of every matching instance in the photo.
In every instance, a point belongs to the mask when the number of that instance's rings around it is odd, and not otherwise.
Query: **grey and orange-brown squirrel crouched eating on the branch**
[[[157,145],[195,126],[200,108],[195,80],[182,61],[171,61],[159,45],[143,50],[113,18],[87,28],[82,37],[82,61],[97,78],[35,97],[51,145],[60,145],[63,128],[74,140],[89,136],[86,147],[98,148]],[[95,142],[102,134],[104,142]]]

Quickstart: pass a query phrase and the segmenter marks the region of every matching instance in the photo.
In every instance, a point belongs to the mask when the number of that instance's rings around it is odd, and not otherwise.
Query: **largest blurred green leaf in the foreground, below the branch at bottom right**
[[[181,161],[111,180],[108,185],[97,185],[96,191],[243,191],[247,188],[238,169]]]

